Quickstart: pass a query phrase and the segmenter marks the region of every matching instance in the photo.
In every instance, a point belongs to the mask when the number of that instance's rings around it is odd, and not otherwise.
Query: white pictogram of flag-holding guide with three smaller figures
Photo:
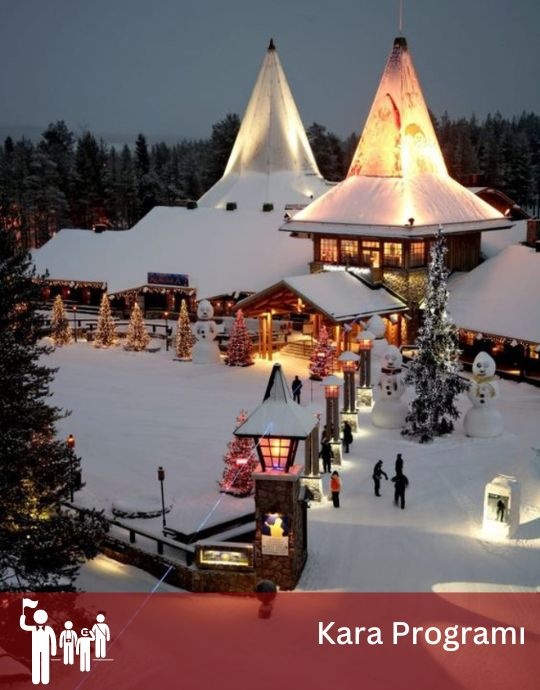
[[[50,625],[45,625],[49,616],[46,611],[37,608],[38,603],[32,599],[23,599],[19,625],[23,630],[32,633],[32,683],[48,685],[51,658],[53,661],[60,661],[60,659],[54,659],[57,651],[56,634]],[[25,609],[37,609],[32,616],[35,625],[27,623]],[[58,637],[58,647],[63,651],[64,665],[73,666],[75,656],[78,656],[80,671],[89,672],[92,662],[92,642],[94,643],[94,661],[106,660],[107,642],[110,642],[110,639],[111,631],[103,613],[97,614],[96,622],[91,630],[82,628],[80,635],[73,630],[73,623],[66,621]]]

